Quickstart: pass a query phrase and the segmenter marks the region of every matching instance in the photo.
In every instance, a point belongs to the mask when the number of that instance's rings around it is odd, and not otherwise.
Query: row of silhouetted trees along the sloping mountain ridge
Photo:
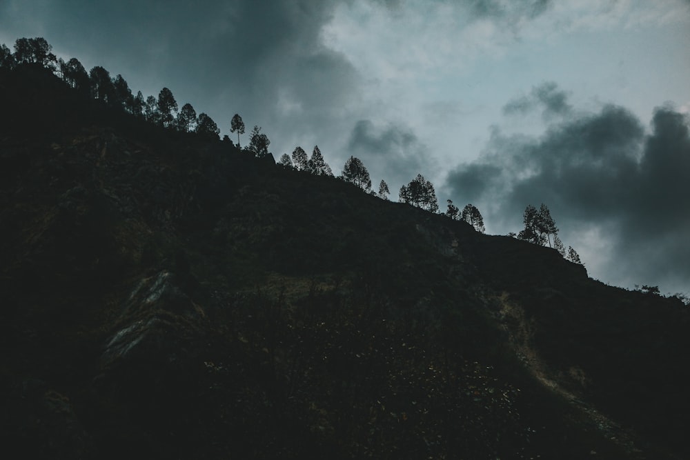
[[[72,57],[68,61],[64,61],[62,58],[56,57],[52,53],[52,46],[42,37],[17,39],[14,43],[14,52],[5,44],[0,45],[0,69],[12,71],[22,66],[46,69],[61,79],[79,97],[95,99],[100,101],[103,106],[122,110],[132,117],[152,123],[155,126],[194,133],[209,141],[220,140],[220,129],[217,123],[204,112],[197,114],[190,103],[184,103],[180,108],[170,89],[162,88],[158,97],[150,95],[144,98],[141,91],[134,94],[121,74],[111,77],[110,72],[101,66],[95,66],[86,72],[79,59]],[[249,134],[248,144],[242,148],[240,135],[245,133],[245,129],[242,117],[235,114],[230,120],[230,132],[237,134],[235,147],[243,152],[253,154],[259,159],[273,160],[273,154],[268,150],[270,140],[259,126],[254,126]],[[222,141],[231,143],[227,135]],[[291,156],[282,154],[276,164],[286,169],[334,177],[331,167],[326,163],[318,146],[314,146],[311,157],[302,147],[297,146]],[[383,179],[379,183],[378,191],[373,190],[369,172],[362,160],[357,157],[351,156],[347,159],[337,179],[352,183],[357,188],[380,199],[387,200],[388,194],[390,194],[388,184]],[[398,197],[401,203],[415,206],[427,212],[438,212],[449,219],[465,221],[477,232],[486,231],[480,210],[471,203],[467,204],[461,211],[451,199],[448,199],[446,200],[446,211],[439,212],[434,186],[422,174],[417,174],[407,185],[402,186]],[[511,232],[508,236],[529,241],[539,246],[548,245],[550,248],[558,250],[565,259],[582,264],[578,253],[571,246],[566,250],[558,238],[558,228],[555,226],[549,208],[544,203],[539,209],[532,205],[527,206],[523,214],[523,223],[523,230],[517,234]]]

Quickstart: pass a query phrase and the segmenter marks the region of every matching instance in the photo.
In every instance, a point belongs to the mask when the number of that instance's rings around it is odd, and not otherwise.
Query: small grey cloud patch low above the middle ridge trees
[[[378,128],[369,120],[359,120],[350,133],[347,148],[351,155],[364,161],[370,173],[385,175],[391,190],[408,183],[417,173],[428,174],[433,167],[425,163],[430,161],[426,147],[411,130],[401,126]]]

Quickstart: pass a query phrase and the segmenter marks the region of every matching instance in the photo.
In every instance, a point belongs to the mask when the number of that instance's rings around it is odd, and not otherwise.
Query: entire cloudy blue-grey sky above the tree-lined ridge
[[[689,0],[0,0],[19,37],[490,234],[545,203],[591,277],[690,293]]]

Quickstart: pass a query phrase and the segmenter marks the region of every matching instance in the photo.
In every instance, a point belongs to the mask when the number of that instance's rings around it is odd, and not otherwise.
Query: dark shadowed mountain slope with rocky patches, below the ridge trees
[[[690,457],[689,312],[0,68],[2,446]]]

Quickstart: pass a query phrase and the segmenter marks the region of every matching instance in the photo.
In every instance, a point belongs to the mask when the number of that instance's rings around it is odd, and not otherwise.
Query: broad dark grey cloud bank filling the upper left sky
[[[0,6],[0,27],[44,36],[57,53],[123,74],[133,90],[157,94],[166,86],[224,132],[239,112],[248,126],[268,125],[268,134],[281,139],[297,123],[284,116],[285,107],[299,112],[302,125],[325,126],[355,92],[353,66],[322,44],[335,4],[24,0]]]

